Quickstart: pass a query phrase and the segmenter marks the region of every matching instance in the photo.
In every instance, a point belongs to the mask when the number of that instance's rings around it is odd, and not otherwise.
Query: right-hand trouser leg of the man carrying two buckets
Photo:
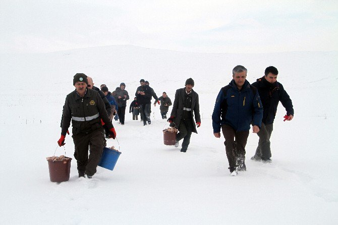
[[[102,130],[98,129],[89,134],[89,158],[85,174],[93,176],[96,173],[96,167],[100,162],[105,139]]]

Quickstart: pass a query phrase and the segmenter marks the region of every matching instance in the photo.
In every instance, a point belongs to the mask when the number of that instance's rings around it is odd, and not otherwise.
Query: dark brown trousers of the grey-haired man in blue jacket
[[[247,144],[249,131],[235,131],[229,125],[222,125],[222,133],[226,141],[224,145],[226,146],[227,157],[230,167],[236,167],[237,161],[245,160],[245,146]]]

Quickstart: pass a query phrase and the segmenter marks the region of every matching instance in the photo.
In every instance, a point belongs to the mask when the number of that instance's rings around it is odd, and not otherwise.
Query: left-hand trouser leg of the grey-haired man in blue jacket
[[[236,167],[235,130],[229,125],[222,125],[222,133],[226,139],[224,145],[226,146],[229,167]]]

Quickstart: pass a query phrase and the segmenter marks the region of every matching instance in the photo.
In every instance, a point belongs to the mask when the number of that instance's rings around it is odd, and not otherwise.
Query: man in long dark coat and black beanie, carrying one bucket
[[[201,126],[198,94],[193,90],[194,84],[194,80],[189,78],[184,88],[176,90],[171,117],[167,120],[171,127],[176,127],[179,130],[175,147],[178,147],[179,141],[183,139],[181,152],[187,151],[191,133],[197,134],[196,125],[197,127]]]

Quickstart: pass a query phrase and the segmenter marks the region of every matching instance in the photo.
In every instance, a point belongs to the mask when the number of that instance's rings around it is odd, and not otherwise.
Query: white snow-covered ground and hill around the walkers
[[[338,52],[210,54],[130,45],[46,54],[0,54],[1,224],[337,224]],[[267,66],[290,94],[295,118],[283,122],[278,107],[271,137],[271,164],[250,160],[258,137],[250,133],[247,171],[230,177],[223,138],[212,134],[211,114],[219,89],[243,65],[248,81]],[[159,107],[143,126],[126,114],[114,121],[122,151],[114,171],[98,167],[92,180],[78,178],[74,144],[71,177],[49,181],[45,157],[64,154],[57,145],[60,119],[73,76],[85,73],[95,86],[114,90],[121,82],[131,99],[140,79],[158,96],[195,80],[202,124],[187,153],[163,145]],[[128,101],[128,106],[131,100]],[[171,110],[171,108],[170,108]]]

